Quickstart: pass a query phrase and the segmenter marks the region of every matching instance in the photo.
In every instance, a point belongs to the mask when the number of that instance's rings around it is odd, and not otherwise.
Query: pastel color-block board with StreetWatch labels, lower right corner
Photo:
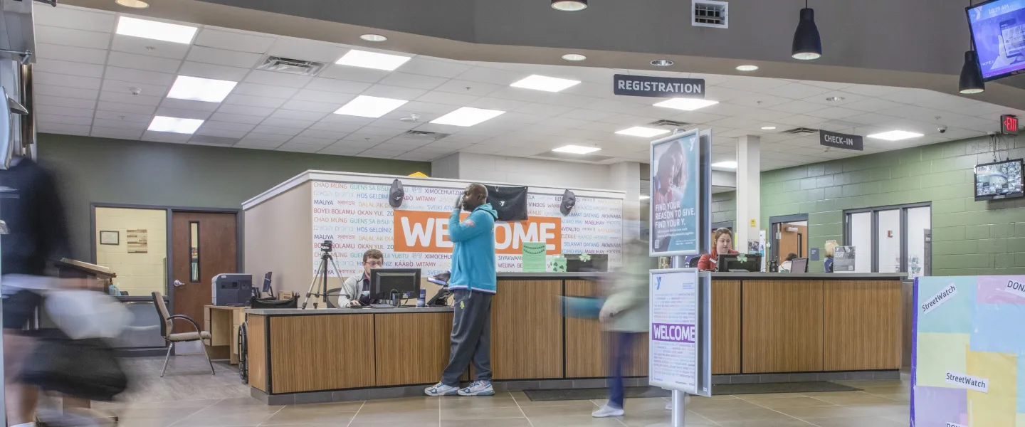
[[[1025,425],[1025,275],[918,277],[911,425]]]

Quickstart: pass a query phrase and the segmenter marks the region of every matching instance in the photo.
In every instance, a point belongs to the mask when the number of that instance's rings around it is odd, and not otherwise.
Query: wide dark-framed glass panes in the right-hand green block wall
[[[929,273],[929,203],[847,211],[845,242],[855,247],[855,272]]]

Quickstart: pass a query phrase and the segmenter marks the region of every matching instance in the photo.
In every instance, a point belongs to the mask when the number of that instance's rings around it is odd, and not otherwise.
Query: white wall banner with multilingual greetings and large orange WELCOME
[[[384,267],[421,268],[423,274],[446,271],[452,264],[448,224],[452,206],[463,188],[405,185],[402,206],[387,204],[389,185],[313,182],[311,268],[320,265],[320,244],[333,242],[340,273],[362,271],[363,253],[377,249]],[[495,223],[498,271],[523,271],[528,253],[544,245],[546,269],[561,254],[605,254],[609,267],[622,259],[622,200],[577,197],[569,216],[559,211],[562,195],[528,193],[525,221]],[[462,212],[465,218],[469,212]],[[531,245],[528,245],[531,244]],[[565,259],[563,259],[565,261]],[[331,274],[334,274],[331,268]]]

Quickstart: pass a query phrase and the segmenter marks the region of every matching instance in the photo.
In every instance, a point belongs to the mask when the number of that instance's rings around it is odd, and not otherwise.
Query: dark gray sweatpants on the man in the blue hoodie
[[[466,289],[452,291],[452,351],[442,372],[445,385],[458,387],[459,377],[474,361],[477,380],[491,380],[491,297]]]

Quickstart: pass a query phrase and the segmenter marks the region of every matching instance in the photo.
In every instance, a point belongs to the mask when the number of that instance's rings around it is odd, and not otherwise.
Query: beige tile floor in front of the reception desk
[[[163,360],[160,360],[162,362]],[[343,403],[269,407],[239,396],[238,375],[227,366],[205,375],[196,361],[175,360],[164,379],[159,364],[132,361],[138,386],[124,401],[96,403],[125,427],[342,426],[342,427],[646,427],[668,423],[663,398],[627,399],[626,416],[594,419],[602,400],[530,401],[523,392],[489,397],[407,397]],[[864,391],[694,396],[688,426],[888,427],[908,425],[910,383],[837,381]],[[205,386],[203,384],[206,384]],[[211,387],[210,391],[203,391]],[[191,390],[191,391],[190,391]],[[211,398],[213,394],[219,394]]]

